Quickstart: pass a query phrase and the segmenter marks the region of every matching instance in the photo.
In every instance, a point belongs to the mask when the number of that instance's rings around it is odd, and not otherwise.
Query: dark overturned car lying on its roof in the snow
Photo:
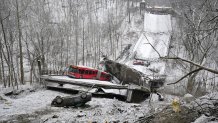
[[[69,107],[69,106],[84,106],[85,103],[91,101],[91,93],[80,93],[73,96],[61,97],[57,96],[53,99],[51,105],[56,107]]]

